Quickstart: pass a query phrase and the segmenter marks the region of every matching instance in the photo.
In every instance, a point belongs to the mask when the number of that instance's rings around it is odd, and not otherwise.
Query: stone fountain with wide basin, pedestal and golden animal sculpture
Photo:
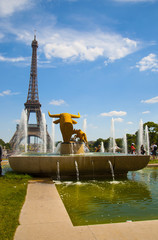
[[[79,177],[80,179],[97,179],[111,176],[111,169],[115,176],[127,176],[128,171],[142,169],[149,162],[150,156],[148,155],[85,153],[84,146],[88,145],[87,136],[81,129],[73,128],[73,124],[77,124],[74,118],[79,118],[80,114],[51,115],[49,113],[49,116],[58,118],[53,122],[60,124],[63,137],[59,148],[60,152],[43,155],[12,155],[9,157],[9,163],[14,171],[51,176],[53,179],[59,179],[60,176],[62,180],[76,179],[76,174],[77,179]],[[112,127],[114,129],[114,121],[112,121]],[[114,140],[113,144],[115,144]],[[113,149],[115,148],[113,147]]]

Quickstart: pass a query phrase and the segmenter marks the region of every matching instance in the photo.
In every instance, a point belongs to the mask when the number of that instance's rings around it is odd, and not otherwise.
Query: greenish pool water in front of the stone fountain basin
[[[73,225],[158,219],[158,168],[117,181],[57,182]]]

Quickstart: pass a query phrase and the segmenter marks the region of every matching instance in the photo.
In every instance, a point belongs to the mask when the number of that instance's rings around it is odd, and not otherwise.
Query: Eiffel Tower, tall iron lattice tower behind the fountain
[[[37,80],[38,42],[36,40],[36,35],[34,35],[34,40],[32,41],[31,46],[32,46],[32,60],[31,60],[29,89],[28,89],[27,101],[24,103],[25,110],[27,112],[28,146],[30,145],[31,137],[34,137],[34,144],[38,143],[37,142],[38,138],[41,138],[40,126],[42,124],[41,104],[39,102],[39,96],[38,96],[38,80]],[[30,113],[36,114],[37,124],[29,124]],[[47,150],[50,150],[51,138],[50,138],[47,130],[46,130],[46,135],[47,135],[47,137],[46,137],[47,138]],[[11,145],[12,149],[15,149],[16,146],[22,141],[22,139],[23,139],[22,135],[19,137],[19,124],[17,124],[16,132],[14,133],[12,139],[10,140],[10,145]]]

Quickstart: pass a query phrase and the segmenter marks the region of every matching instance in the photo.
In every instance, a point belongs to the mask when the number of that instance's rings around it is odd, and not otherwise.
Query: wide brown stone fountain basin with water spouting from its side
[[[146,167],[149,160],[150,156],[146,155],[12,155],[9,157],[10,166],[15,172],[52,176],[54,179],[57,179],[59,172],[61,179],[76,177],[75,161],[79,176],[93,179],[96,176],[111,175],[109,161],[115,175],[127,175],[128,171]]]

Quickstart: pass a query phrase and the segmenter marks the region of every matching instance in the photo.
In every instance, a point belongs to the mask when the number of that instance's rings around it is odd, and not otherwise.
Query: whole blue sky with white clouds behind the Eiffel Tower
[[[140,119],[157,123],[157,13],[157,0],[0,0],[0,138],[11,139],[24,109],[34,30],[50,133],[48,111],[79,112],[88,140],[108,138],[112,117],[117,138]]]

